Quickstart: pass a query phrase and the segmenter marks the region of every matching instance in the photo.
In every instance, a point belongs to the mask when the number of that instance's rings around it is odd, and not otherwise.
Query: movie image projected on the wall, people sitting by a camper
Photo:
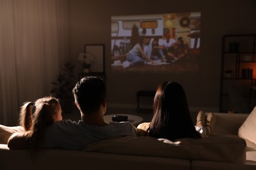
[[[112,71],[198,71],[200,12],[112,16]]]

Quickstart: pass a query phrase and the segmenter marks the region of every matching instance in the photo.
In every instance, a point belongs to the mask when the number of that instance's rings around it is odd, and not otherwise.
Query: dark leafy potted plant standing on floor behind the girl
[[[75,65],[70,62],[64,63],[62,73],[57,75],[57,81],[52,82],[54,88],[51,90],[51,95],[60,99],[60,105],[62,106],[63,112],[71,112],[74,103],[74,96],[72,93],[72,89],[76,82],[74,67]]]

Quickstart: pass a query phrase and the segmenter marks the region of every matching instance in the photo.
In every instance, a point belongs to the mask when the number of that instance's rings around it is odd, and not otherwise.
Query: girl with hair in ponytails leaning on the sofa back
[[[62,120],[61,112],[60,103],[54,97],[24,103],[20,109],[20,126],[24,127],[24,132],[14,133],[9,138],[9,148],[31,148],[35,152],[39,150],[43,144],[45,128]]]

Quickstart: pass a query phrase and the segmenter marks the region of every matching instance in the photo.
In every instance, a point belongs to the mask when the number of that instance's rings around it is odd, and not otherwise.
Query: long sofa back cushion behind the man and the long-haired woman
[[[116,137],[88,144],[83,150],[244,164],[246,144],[240,137],[221,135],[174,142],[153,137]]]

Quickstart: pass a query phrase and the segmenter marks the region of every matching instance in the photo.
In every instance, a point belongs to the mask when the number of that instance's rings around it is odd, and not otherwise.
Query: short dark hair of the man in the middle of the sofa
[[[98,110],[106,98],[106,87],[101,78],[86,76],[75,84],[73,93],[83,114],[90,114]]]

